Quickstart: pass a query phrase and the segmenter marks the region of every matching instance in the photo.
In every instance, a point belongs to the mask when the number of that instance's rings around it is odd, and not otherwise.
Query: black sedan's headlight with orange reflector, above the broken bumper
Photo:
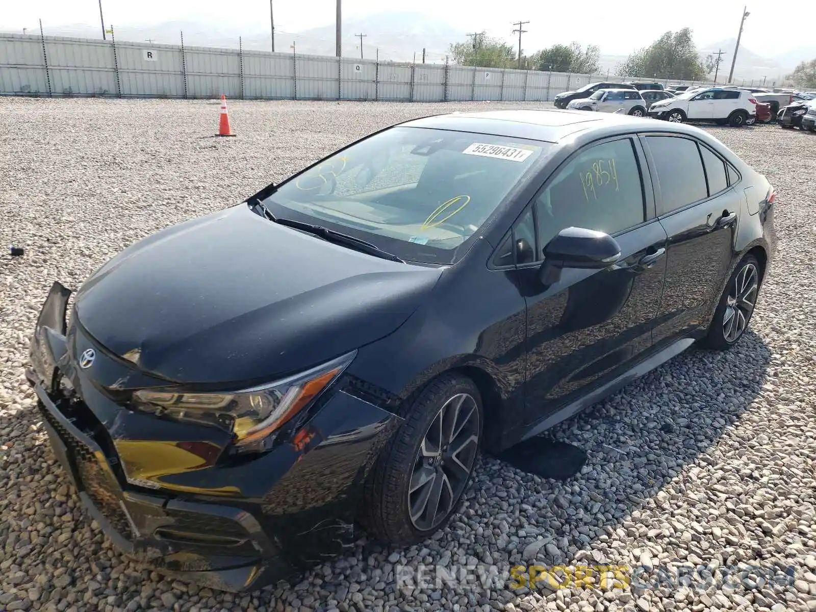
[[[142,389],[136,410],[218,427],[232,433],[237,450],[266,450],[287,421],[319,396],[352,362],[356,351],[271,384],[230,393],[179,393]]]

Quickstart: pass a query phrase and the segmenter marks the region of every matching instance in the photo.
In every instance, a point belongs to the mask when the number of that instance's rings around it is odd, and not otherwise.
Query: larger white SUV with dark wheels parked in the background
[[[750,91],[707,87],[655,102],[649,116],[676,123],[713,121],[740,127],[756,121],[756,98]]]

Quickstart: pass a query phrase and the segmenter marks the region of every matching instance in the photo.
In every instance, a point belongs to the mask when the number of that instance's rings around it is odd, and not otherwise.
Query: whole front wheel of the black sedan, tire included
[[[419,393],[366,483],[361,522],[370,534],[410,546],[450,521],[476,463],[482,415],[479,390],[462,375]]]

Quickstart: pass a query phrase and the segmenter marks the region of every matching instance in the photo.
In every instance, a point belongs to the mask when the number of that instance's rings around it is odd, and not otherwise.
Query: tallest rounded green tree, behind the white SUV
[[[713,57],[711,58],[713,64]],[[691,38],[691,29],[667,32],[649,47],[638,49],[620,64],[621,77],[676,78],[695,80],[704,78],[707,65],[700,60]]]

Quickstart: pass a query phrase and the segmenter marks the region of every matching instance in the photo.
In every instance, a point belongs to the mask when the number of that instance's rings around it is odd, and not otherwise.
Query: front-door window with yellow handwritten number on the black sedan
[[[539,254],[563,228],[618,233],[641,224],[643,188],[632,141],[614,140],[583,149],[536,199]]]

